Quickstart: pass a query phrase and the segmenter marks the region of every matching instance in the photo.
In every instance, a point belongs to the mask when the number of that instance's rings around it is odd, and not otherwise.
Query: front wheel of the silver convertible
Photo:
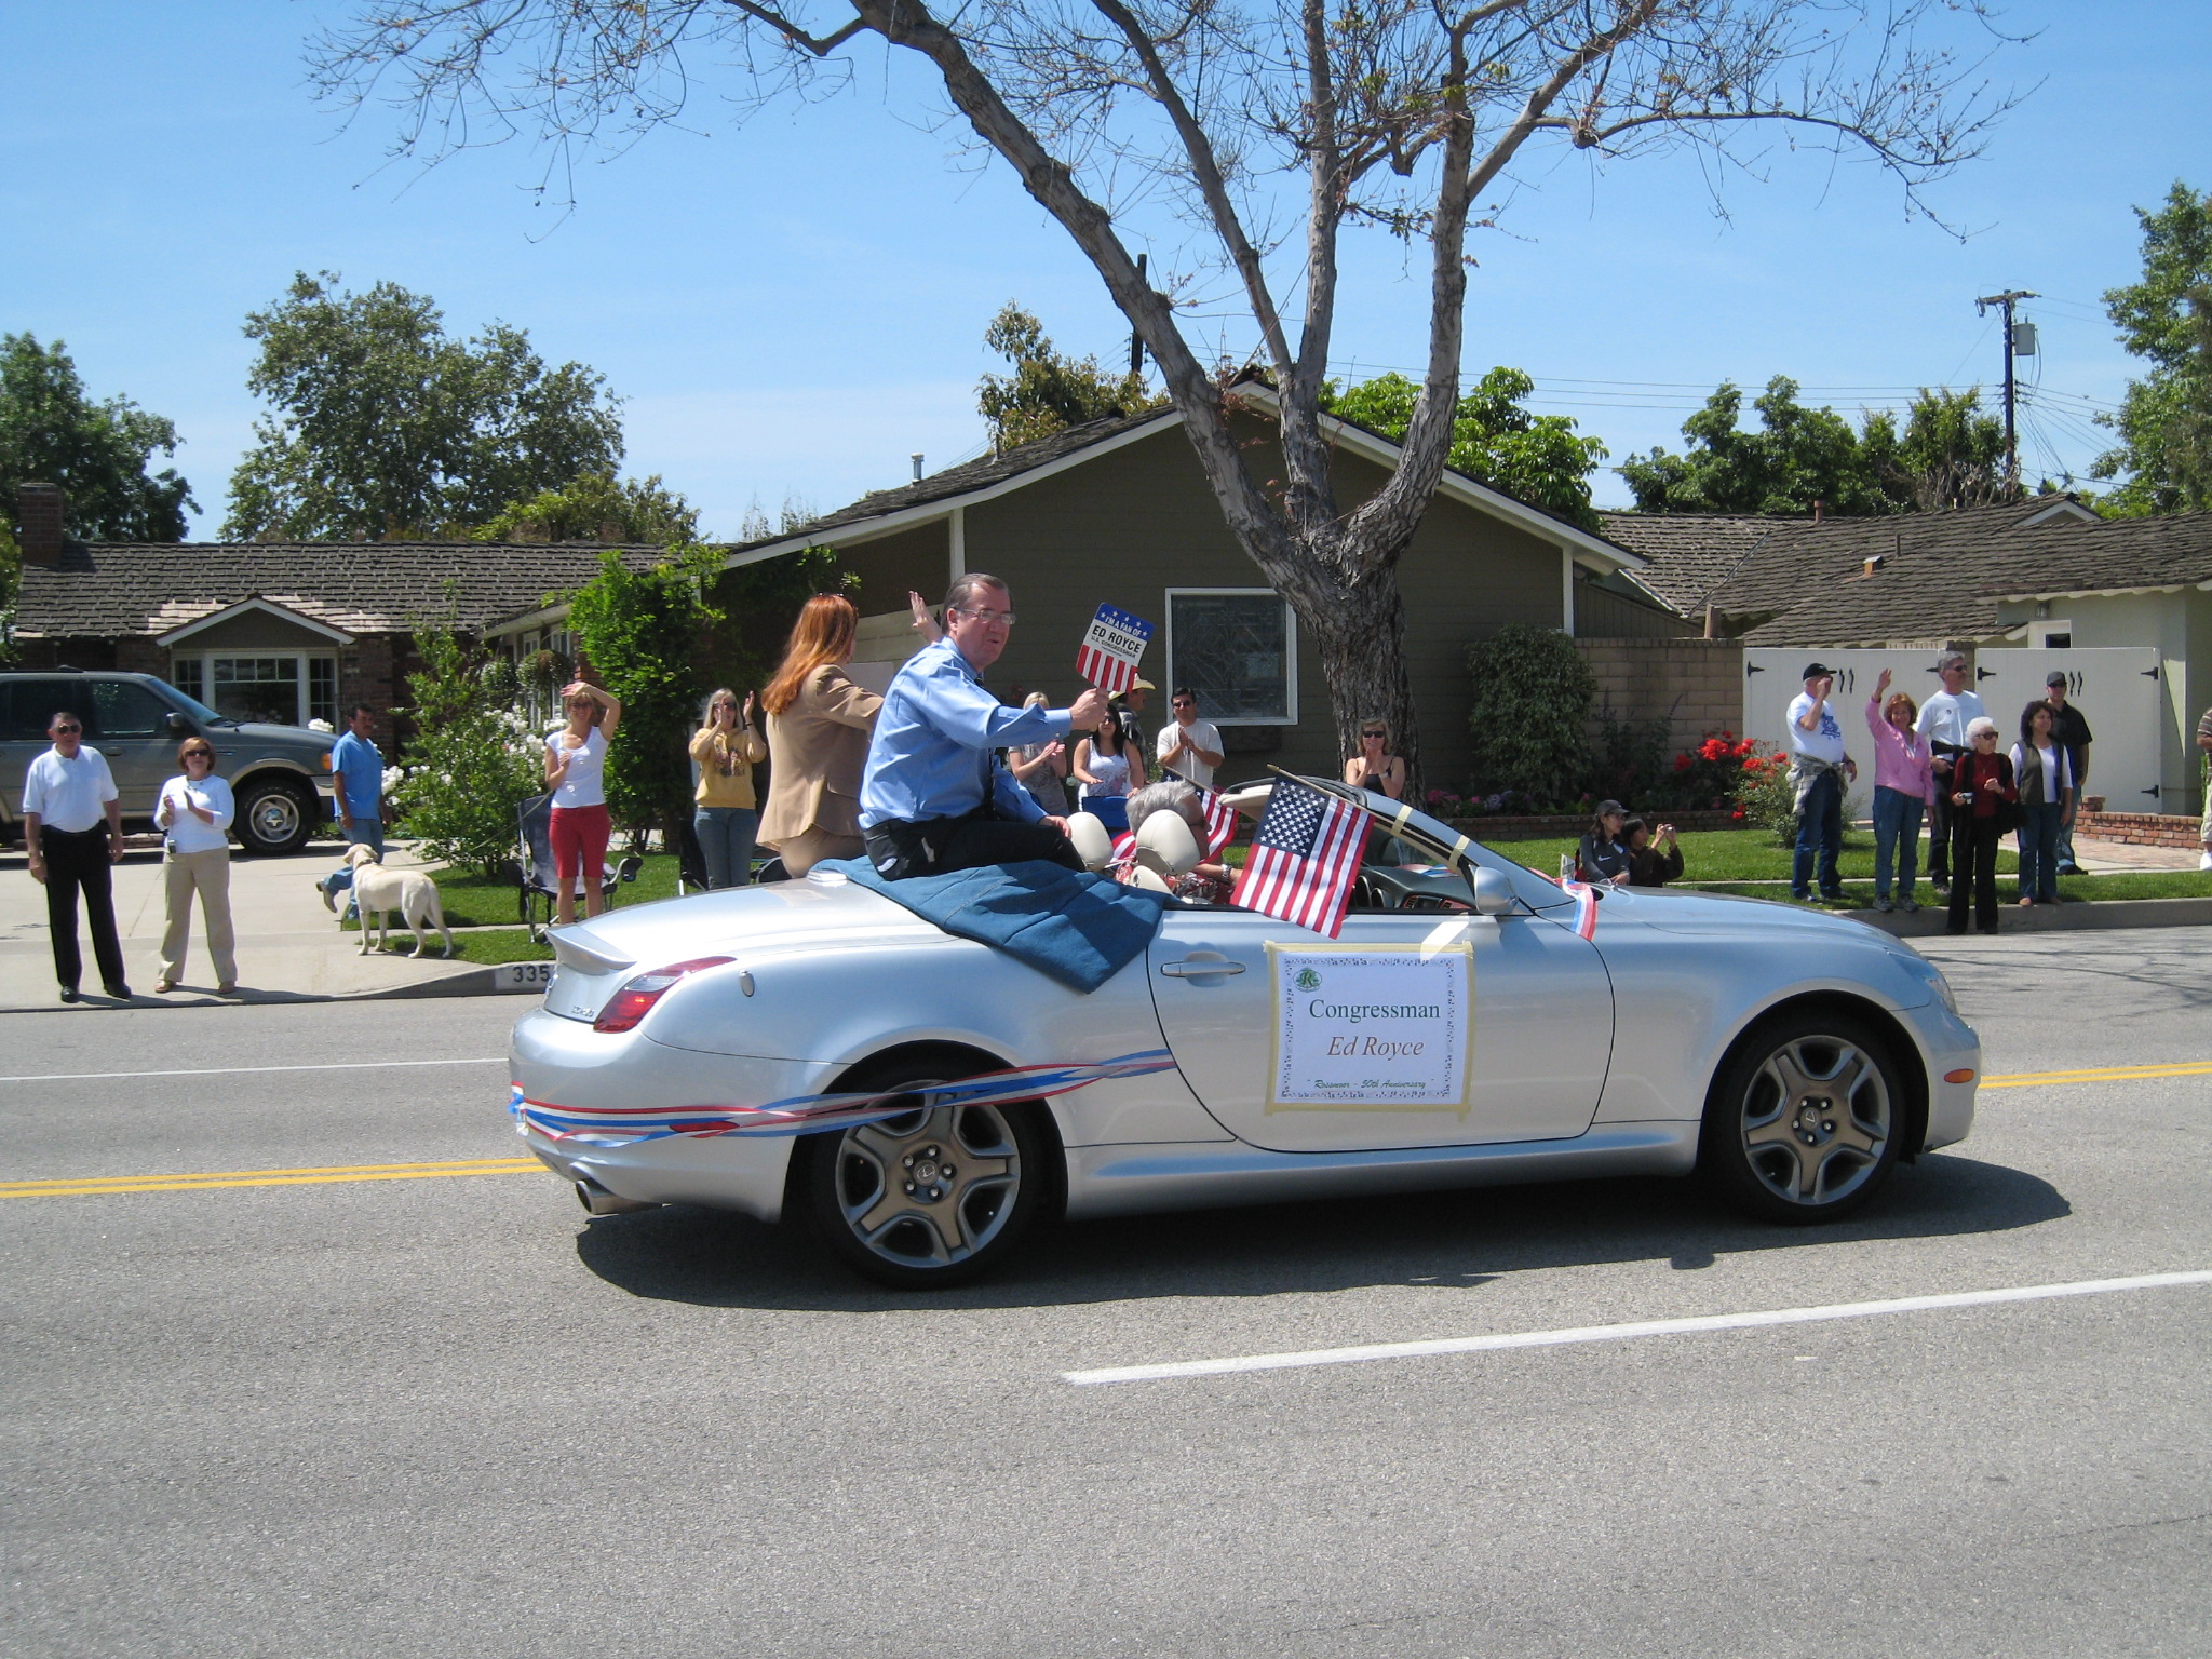
[[[1889,1179],[1902,1121],[1898,1064],[1865,1020],[1783,1013],[1754,1026],[1714,1077],[1697,1166],[1761,1221],[1838,1221]]]

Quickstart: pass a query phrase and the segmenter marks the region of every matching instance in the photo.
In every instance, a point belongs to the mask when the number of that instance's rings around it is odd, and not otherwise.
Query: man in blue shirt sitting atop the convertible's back
[[[980,677],[1011,633],[1006,584],[964,575],[945,595],[945,637],[891,677],[860,776],[860,838],[885,878],[1024,858],[1082,869],[1066,818],[1046,816],[995,750],[1095,730],[1106,692],[1093,686],[1075,708],[1006,708]]]

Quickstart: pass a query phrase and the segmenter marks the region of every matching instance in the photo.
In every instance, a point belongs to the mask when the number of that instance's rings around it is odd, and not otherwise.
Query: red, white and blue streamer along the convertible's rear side
[[[825,1128],[858,1128],[887,1117],[905,1117],[936,1106],[1011,1106],[1051,1099],[1091,1084],[1172,1071],[1166,1048],[1148,1048],[1119,1060],[1062,1066],[1015,1066],[960,1082],[898,1088],[883,1095],[792,1095],[765,1106],[555,1106],[531,1099],[520,1084],[509,1088],[507,1113],[515,1126],[551,1141],[582,1146],[637,1146],[675,1135],[695,1141],[721,1135],[814,1135]]]

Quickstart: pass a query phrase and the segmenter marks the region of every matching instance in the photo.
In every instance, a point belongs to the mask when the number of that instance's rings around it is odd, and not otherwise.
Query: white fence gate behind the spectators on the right
[[[1891,690],[1924,703],[1942,690],[1936,677],[1940,650],[1776,650],[1743,653],[1743,734],[1774,748],[1790,748],[1790,699],[1805,690],[1798,679],[1812,661],[1836,670],[1836,719],[1843,739],[1860,761],[1860,783],[1871,787],[1871,748],[1865,708],[1887,668]],[[1975,653],[1975,684],[1989,717],[2008,750],[2020,737],[2020,712],[2044,695],[2044,677],[2066,670],[2066,697],[2081,706],[2097,743],[2090,750],[2088,794],[2101,794],[2108,812],[2159,812],[2159,761],[2166,732],[2166,688],[2157,646],[2112,646],[2101,650],[1995,648]]]

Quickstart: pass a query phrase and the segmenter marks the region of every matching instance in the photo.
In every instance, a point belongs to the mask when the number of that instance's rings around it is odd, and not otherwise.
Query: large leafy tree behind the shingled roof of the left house
[[[484,524],[622,460],[619,398],[582,363],[549,369],[524,330],[445,334],[398,283],[347,294],[299,272],[246,336],[272,405],[230,480],[232,540],[376,540]]]

